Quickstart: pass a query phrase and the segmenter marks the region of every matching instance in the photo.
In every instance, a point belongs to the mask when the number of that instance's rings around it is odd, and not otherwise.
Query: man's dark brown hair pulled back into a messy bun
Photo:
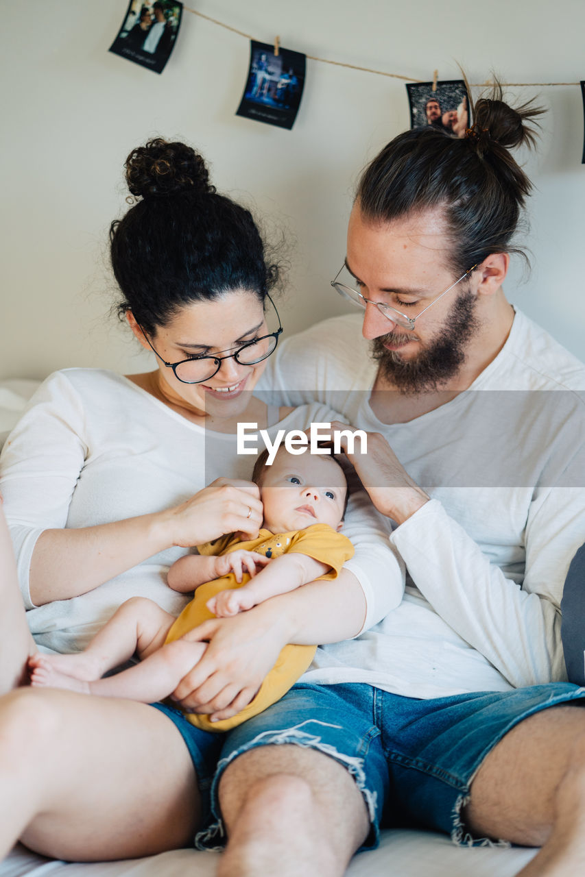
[[[471,104],[468,85],[467,92]],[[469,272],[492,253],[524,254],[513,236],[531,181],[512,149],[533,145],[543,112],[531,101],[510,107],[502,101],[502,88],[496,82],[474,111],[472,106],[473,125],[465,137],[433,125],[399,134],[365,168],[359,181],[362,216],[375,223],[392,223],[425,210],[441,210],[454,276]]]

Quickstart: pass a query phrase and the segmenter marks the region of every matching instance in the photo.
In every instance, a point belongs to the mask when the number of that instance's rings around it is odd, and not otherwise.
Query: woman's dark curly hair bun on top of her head
[[[126,159],[126,182],[134,196],[170,196],[180,192],[213,194],[203,158],[184,143],[158,137],[138,146]]]

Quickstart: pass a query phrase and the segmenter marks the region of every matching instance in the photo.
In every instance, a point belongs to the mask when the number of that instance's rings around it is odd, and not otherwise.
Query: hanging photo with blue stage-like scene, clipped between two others
[[[305,85],[305,55],[270,43],[250,42],[248,81],[237,116],[292,128]]]

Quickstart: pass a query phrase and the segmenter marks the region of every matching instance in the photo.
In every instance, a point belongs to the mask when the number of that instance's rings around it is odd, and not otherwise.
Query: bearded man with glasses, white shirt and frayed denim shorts
[[[563,681],[559,606],[585,531],[585,368],[502,289],[530,182],[497,137],[515,118],[514,145],[530,139],[533,112],[496,93],[466,139],[415,129],[379,153],[333,281],[372,356],[336,317],[285,342],[266,381],[371,431],[350,459],[408,587],[228,735],[221,877],[341,875],[383,808],[458,843],[542,845],[523,877],[583,866],[585,693]]]

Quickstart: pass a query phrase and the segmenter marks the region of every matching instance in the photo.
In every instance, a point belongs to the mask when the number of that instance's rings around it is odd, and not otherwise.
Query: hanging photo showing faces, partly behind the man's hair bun
[[[410,103],[410,127],[424,128],[434,125],[456,137],[465,137],[471,127],[471,111],[466,83],[462,79],[437,82],[408,82]]]

